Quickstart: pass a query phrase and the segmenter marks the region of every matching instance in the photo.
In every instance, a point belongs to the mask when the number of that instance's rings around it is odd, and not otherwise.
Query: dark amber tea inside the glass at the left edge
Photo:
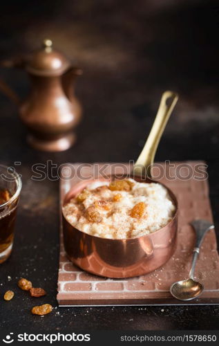
[[[10,199],[8,190],[0,190],[0,263],[10,255],[14,238],[14,226],[17,206],[1,207]],[[8,251],[7,251],[8,249]]]

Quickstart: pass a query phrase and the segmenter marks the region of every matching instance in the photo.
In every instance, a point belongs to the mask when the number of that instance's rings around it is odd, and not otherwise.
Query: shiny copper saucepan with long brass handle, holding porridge
[[[167,100],[170,104],[166,104]],[[151,165],[160,137],[177,100],[178,95],[171,91],[166,91],[162,95],[149,138],[135,163],[133,174],[130,174],[130,178],[135,181],[158,183],[151,179]],[[127,178],[127,175],[116,176],[116,179],[124,178]],[[112,181],[115,176],[108,176],[108,179]],[[91,180],[74,185],[66,194],[64,204],[83,190],[88,183],[91,183]],[[117,278],[146,274],[162,266],[175,251],[178,219],[177,200],[173,192],[169,188],[166,189],[175,204],[173,219],[160,230],[142,237],[106,239],[88,235],[72,226],[62,215],[64,246],[69,260],[89,273]]]

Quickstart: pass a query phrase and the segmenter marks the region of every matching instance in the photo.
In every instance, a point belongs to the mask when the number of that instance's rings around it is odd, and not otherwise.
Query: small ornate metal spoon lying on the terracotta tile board
[[[189,272],[189,279],[174,282],[170,288],[171,295],[178,300],[192,300],[197,298],[204,289],[204,286],[200,284],[200,282],[194,280],[194,271],[204,235],[214,226],[211,222],[206,220],[195,220],[191,222],[191,225],[194,230],[196,230],[196,246],[193,250],[193,260]]]

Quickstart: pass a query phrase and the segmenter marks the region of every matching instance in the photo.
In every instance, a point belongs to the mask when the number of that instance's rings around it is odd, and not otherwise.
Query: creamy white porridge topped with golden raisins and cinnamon
[[[133,179],[94,181],[63,208],[64,217],[78,230],[111,239],[153,233],[166,226],[174,212],[164,186]]]

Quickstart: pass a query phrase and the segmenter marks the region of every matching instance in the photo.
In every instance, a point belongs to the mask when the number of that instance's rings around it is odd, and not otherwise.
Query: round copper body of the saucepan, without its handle
[[[122,179],[122,176],[120,177]],[[133,176],[131,176],[133,178]],[[135,176],[140,182],[152,183],[151,179]],[[64,199],[67,203],[91,181],[83,181],[73,187]],[[166,187],[165,187],[166,188]],[[131,239],[106,239],[83,233],[62,216],[64,246],[70,261],[84,271],[104,277],[134,277],[154,271],[173,255],[177,237],[178,203],[169,191],[176,211],[165,227],[150,235]]]

